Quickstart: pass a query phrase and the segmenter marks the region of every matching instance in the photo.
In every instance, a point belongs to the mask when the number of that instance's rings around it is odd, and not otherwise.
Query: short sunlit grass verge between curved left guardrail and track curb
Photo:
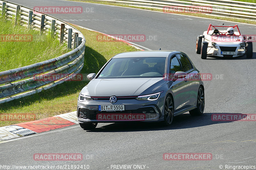
[[[99,42],[96,40],[96,36],[100,33],[79,27],[77,29],[84,34],[86,39],[84,67],[80,73],[97,73],[114,55],[122,52],[137,51],[136,48],[120,41]],[[38,120],[75,111],[78,94],[88,82],[68,81],[44,92],[0,104],[0,114],[36,114],[36,119]],[[22,121],[0,121],[0,127],[19,122]]]

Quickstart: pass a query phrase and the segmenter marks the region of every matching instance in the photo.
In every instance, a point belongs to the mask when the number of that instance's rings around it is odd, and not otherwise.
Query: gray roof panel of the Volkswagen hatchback
[[[150,50],[150,51],[132,51],[115,55],[112,58],[124,58],[124,57],[168,57],[175,53],[183,53],[181,51],[173,50]]]

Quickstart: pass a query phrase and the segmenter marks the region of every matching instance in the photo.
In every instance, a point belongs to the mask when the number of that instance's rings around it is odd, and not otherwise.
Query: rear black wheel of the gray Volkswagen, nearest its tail
[[[203,115],[204,113],[204,89],[200,86],[197,93],[196,108],[189,111],[192,116]]]

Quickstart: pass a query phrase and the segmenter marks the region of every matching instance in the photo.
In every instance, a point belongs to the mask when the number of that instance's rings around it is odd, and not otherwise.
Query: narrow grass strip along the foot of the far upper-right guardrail
[[[66,1],[78,1],[78,2],[88,2],[88,3],[95,3],[95,4],[106,4],[106,5],[115,5],[115,6],[124,6],[124,7],[130,7],[130,8],[138,8],[138,9],[145,9],[150,11],[161,11],[163,12],[163,9],[156,9],[156,8],[149,8],[149,7],[140,7],[140,6],[133,6],[128,4],[117,4],[117,3],[110,3],[106,1],[93,1],[93,0],[66,0]],[[256,0],[242,0],[243,2],[252,1],[256,3]],[[203,18],[212,18],[212,19],[220,19],[220,20],[226,20],[226,21],[233,21],[233,22],[241,22],[246,24],[254,24],[256,25],[256,21],[252,20],[246,20],[246,19],[236,19],[236,18],[230,18],[230,17],[218,17],[218,16],[211,16],[211,15],[205,15],[203,13],[179,13],[183,15],[189,15],[189,16],[196,16],[196,17],[203,17]]]

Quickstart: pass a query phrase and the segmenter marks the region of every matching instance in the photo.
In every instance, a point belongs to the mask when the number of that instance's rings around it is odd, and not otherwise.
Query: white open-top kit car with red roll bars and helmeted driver
[[[226,29],[227,28],[227,29]],[[252,37],[241,35],[238,26],[212,26],[197,36],[196,53],[202,59],[207,56],[252,58]]]

